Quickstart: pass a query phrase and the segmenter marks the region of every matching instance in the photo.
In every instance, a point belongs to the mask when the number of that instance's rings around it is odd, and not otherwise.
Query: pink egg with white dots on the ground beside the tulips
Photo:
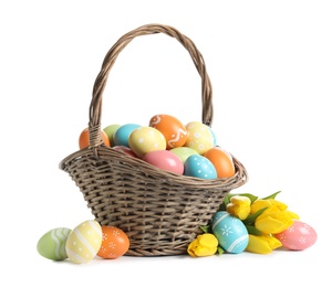
[[[282,243],[284,248],[291,251],[303,251],[317,242],[317,232],[309,224],[294,221],[293,225],[274,234],[276,238]]]

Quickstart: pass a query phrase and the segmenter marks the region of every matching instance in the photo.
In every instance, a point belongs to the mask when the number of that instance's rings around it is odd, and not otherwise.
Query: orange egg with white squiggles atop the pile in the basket
[[[155,115],[149,120],[149,127],[158,129],[166,139],[166,148],[181,147],[187,140],[187,130],[176,117],[170,115]]]

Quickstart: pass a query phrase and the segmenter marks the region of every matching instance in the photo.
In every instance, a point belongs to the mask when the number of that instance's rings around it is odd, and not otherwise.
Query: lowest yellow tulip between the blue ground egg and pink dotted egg
[[[249,243],[246,251],[258,254],[269,254],[281,246],[281,242],[271,235],[258,236],[249,234]]]

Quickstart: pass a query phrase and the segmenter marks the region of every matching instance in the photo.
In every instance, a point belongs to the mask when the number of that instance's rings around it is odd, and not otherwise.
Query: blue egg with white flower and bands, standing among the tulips
[[[225,252],[238,254],[247,248],[248,231],[238,217],[226,211],[218,211],[211,219],[211,228]]]

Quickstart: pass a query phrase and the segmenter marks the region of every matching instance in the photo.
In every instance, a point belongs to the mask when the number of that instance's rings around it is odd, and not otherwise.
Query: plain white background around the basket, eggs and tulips
[[[1,1],[1,276],[3,286],[280,286],[331,269],[331,1]],[[194,259],[121,257],[85,265],[43,258],[46,231],[92,219],[59,162],[77,150],[108,49],[147,23],[169,24],[201,52],[218,144],[247,168],[238,192],[281,190],[318,242],[303,252]],[[135,39],[104,93],[103,126],[158,113],[200,120],[200,78],[167,35]],[[129,111],[131,110],[131,111]],[[330,267],[326,267],[330,266]]]

